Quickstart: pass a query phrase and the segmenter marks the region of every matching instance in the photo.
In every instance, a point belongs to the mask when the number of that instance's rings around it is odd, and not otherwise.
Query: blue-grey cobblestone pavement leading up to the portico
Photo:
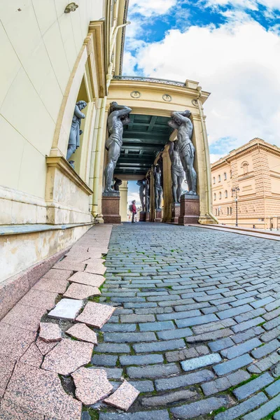
[[[114,227],[99,302],[118,309],[92,364],[141,394],[99,420],[280,419],[279,251],[230,232]]]

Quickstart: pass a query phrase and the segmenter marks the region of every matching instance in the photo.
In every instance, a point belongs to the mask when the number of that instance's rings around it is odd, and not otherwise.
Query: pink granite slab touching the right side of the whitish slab
[[[95,328],[102,328],[116,308],[108,304],[100,304],[96,302],[87,302],[83,312],[76,318],[76,321],[83,322]]]

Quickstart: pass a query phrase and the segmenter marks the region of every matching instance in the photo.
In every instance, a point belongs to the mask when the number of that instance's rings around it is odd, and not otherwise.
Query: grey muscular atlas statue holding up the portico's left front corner
[[[108,151],[108,165],[104,170],[105,188],[104,192],[114,191],[112,188],[113,172],[120,157],[120,148],[123,144],[123,126],[130,123],[131,108],[125,105],[118,105],[117,102],[111,103],[112,112],[108,117],[109,138],[106,140],[105,147]]]

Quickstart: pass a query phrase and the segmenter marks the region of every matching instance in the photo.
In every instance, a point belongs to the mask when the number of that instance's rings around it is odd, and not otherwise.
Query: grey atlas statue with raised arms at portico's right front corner
[[[188,194],[197,194],[197,173],[193,167],[195,160],[195,146],[191,141],[193,135],[193,123],[190,120],[190,111],[178,111],[172,113],[172,120],[168,122],[170,127],[176,128],[179,155],[186,174]]]

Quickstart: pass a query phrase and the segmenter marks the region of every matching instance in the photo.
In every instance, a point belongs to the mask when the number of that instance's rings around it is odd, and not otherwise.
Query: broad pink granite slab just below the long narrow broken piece
[[[62,339],[45,356],[42,368],[60,374],[70,374],[78,367],[90,363],[93,345],[72,339]]]

